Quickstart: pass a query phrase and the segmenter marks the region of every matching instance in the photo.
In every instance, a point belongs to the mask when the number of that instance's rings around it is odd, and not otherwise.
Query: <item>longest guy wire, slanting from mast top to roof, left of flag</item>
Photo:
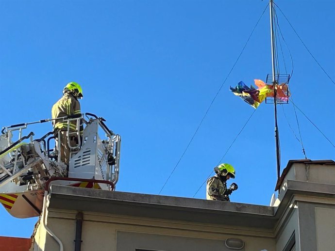
[[[269,3],[268,3],[268,5],[269,5]],[[207,113],[208,113],[209,109],[212,107],[212,104],[213,104],[214,100],[217,98],[217,96],[218,96],[219,92],[221,91],[221,89],[222,89],[222,87],[223,87],[224,83],[227,81],[228,77],[229,77],[229,76],[230,76],[230,74],[232,73],[232,71],[233,71],[233,69],[234,69],[234,67],[235,67],[236,63],[238,62],[239,58],[241,57],[241,55],[242,55],[242,53],[243,53],[243,51],[244,51],[245,47],[247,47],[247,44],[248,44],[248,42],[249,42],[249,40],[250,40],[250,38],[251,38],[251,35],[253,34],[253,31],[256,29],[256,27],[257,27],[257,25],[258,25],[259,21],[261,20],[262,16],[264,15],[265,11],[267,10],[267,8],[268,8],[268,5],[265,7],[265,9],[264,9],[264,11],[263,11],[262,15],[261,15],[261,16],[259,17],[259,19],[257,20],[257,22],[256,22],[255,26],[253,27],[253,29],[252,29],[252,31],[251,31],[251,33],[250,33],[249,37],[248,37],[248,40],[247,40],[247,42],[245,43],[244,47],[242,48],[242,51],[240,52],[240,54],[238,55],[238,57],[237,57],[237,59],[236,59],[236,61],[235,61],[234,65],[233,65],[233,67],[231,68],[231,70],[229,71],[229,73],[228,73],[227,77],[224,79],[223,83],[221,84],[220,88],[218,89],[218,92],[217,92],[217,94],[214,96],[214,98],[213,98],[213,100],[212,100],[211,104],[209,105],[208,109],[206,110],[205,114],[203,115],[203,117],[202,117],[202,119],[201,119],[201,121],[200,121],[200,123],[199,123],[199,126],[197,127],[196,131],[194,132],[194,134],[193,134],[193,136],[192,136],[191,140],[189,141],[189,143],[187,144],[187,146],[186,146],[186,148],[185,148],[185,150],[184,150],[184,152],[183,152],[182,156],[179,158],[179,160],[178,160],[177,164],[175,165],[175,167],[173,168],[172,172],[171,172],[171,173],[170,173],[170,175],[168,176],[168,179],[167,179],[167,180],[166,180],[166,182],[164,183],[164,185],[163,185],[163,187],[161,188],[161,190],[159,191],[158,195],[160,195],[160,194],[161,194],[161,192],[162,192],[163,188],[164,188],[164,187],[165,187],[165,185],[168,183],[168,180],[170,179],[170,177],[171,177],[172,173],[173,173],[173,172],[176,170],[176,168],[177,168],[177,166],[178,166],[179,162],[180,162],[180,161],[182,160],[182,158],[184,157],[184,154],[186,153],[186,151],[187,151],[187,149],[188,149],[189,145],[191,144],[191,142],[193,141],[193,139],[194,139],[195,135],[197,134],[197,132],[198,132],[198,130],[199,130],[199,128],[200,128],[200,126],[201,126],[201,124],[202,124],[202,121],[205,119],[205,117],[207,116]]]

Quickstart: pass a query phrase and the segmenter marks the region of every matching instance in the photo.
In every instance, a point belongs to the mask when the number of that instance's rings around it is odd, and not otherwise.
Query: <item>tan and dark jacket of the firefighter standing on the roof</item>
[[[218,176],[210,177],[207,180],[206,199],[214,201],[229,201],[229,196],[225,195],[227,184]]]

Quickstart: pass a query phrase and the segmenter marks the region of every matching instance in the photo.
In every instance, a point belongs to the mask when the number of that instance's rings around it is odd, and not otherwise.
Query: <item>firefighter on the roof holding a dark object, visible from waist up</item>
[[[230,201],[229,195],[237,190],[237,184],[233,183],[227,189],[226,181],[235,178],[234,167],[229,164],[220,164],[214,168],[215,176],[207,180],[207,200],[213,201]]]

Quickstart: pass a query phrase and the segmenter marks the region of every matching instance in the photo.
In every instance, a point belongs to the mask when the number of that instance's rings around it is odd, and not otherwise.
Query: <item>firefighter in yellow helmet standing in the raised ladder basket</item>
[[[68,83],[63,90],[63,97],[58,100],[52,107],[51,114],[53,120],[52,125],[54,128],[55,135],[57,137],[57,131],[60,131],[60,139],[56,139],[56,147],[58,147],[58,141],[60,141],[60,149],[58,150],[58,156],[60,154],[61,161],[65,164],[69,163],[70,159],[70,146],[74,147],[78,145],[78,137],[76,136],[77,120],[70,121],[69,125],[67,120],[59,119],[61,117],[73,116],[81,114],[80,103],[78,98],[83,97],[82,87],[76,82]],[[69,126],[70,135],[67,135],[67,126]],[[83,134],[84,127],[80,126],[80,135]]]

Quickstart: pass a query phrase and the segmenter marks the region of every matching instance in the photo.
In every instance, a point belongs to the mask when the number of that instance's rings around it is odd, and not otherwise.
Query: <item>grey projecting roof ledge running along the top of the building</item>
[[[292,195],[335,198],[335,185],[287,180],[278,207],[52,185],[49,208],[273,229]]]

